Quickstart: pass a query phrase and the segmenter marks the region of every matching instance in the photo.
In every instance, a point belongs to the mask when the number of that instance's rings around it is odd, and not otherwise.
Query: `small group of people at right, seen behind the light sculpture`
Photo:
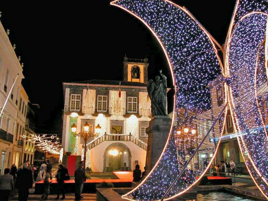
[[[233,162],[232,159],[230,160],[230,162],[227,161],[226,163],[224,161],[220,161],[220,164],[216,163],[214,167],[212,165],[212,174],[213,176],[226,177],[226,173],[234,173],[233,171],[235,166],[236,164]]]

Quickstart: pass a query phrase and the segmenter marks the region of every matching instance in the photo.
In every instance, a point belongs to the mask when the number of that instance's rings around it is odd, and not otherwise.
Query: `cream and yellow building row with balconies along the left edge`
[[[12,163],[17,166],[21,163],[23,141],[19,138],[19,132],[24,132],[25,112],[29,102],[28,96],[21,85],[24,78],[23,68],[14,52],[8,35],[0,22],[0,107],[12,88],[18,74],[10,97],[0,118],[0,173],[11,167]]]

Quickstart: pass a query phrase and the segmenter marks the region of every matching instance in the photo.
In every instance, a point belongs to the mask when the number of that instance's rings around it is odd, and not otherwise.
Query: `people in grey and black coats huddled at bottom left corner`
[[[14,189],[14,186],[18,188],[19,200],[27,200],[29,189],[33,184],[32,169],[29,161],[23,163],[18,169],[15,164],[11,169],[4,169],[4,175],[0,176],[0,193],[1,200],[8,200],[10,192]]]

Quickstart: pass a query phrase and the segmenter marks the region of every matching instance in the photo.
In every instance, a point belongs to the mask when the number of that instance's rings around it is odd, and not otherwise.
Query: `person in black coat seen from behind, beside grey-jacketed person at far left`
[[[32,172],[27,168],[27,163],[23,163],[23,169],[20,169],[17,174],[16,187],[18,188],[19,201],[26,201],[29,195],[29,188],[32,188]]]

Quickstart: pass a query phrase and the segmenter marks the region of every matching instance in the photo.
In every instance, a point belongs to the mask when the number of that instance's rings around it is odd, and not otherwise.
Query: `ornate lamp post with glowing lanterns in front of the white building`
[[[83,125],[83,127],[84,127],[84,131],[81,131],[80,133],[76,133],[77,126],[75,125],[75,123],[73,123],[73,125],[71,126],[71,130],[72,130],[72,133],[73,133],[73,135],[75,137],[76,136],[80,136],[85,141],[85,145],[84,145],[85,146],[85,151],[84,151],[84,169],[85,169],[86,152],[87,152],[87,149],[86,149],[87,140],[88,140],[88,138],[91,138],[91,137],[98,137],[101,127],[100,127],[99,124],[96,126],[96,134],[94,134],[91,131],[89,131],[89,124],[88,124],[88,122],[86,122]]]

